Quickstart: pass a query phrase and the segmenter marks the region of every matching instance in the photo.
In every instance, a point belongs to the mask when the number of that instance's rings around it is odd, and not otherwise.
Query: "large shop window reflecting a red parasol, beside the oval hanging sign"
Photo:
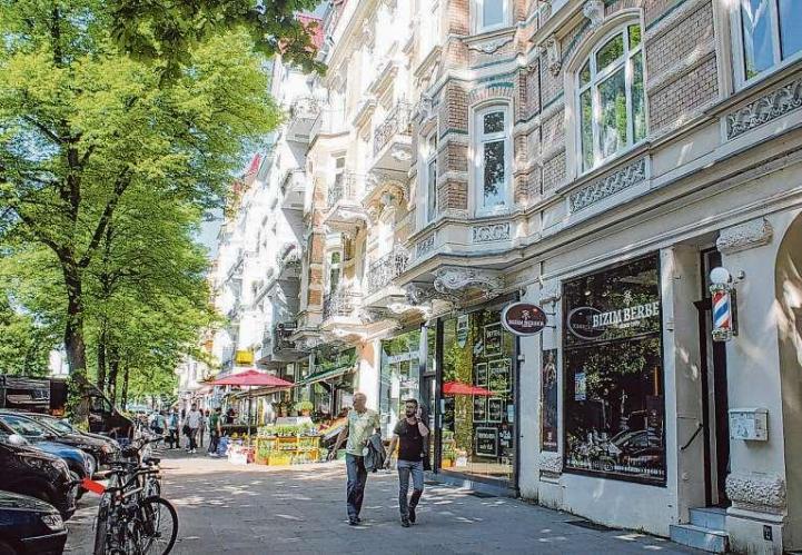
[[[498,310],[444,321],[443,469],[513,480],[514,359],[515,338],[502,328]]]

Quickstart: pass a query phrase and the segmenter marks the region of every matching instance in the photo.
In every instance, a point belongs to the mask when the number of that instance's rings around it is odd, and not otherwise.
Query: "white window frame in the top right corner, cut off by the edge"
[[[734,4],[730,8],[730,37],[732,42],[730,48],[732,49],[732,67],[734,72],[735,90],[745,89],[746,87],[765,79],[780,71],[781,69],[794,63],[802,59],[802,50],[789,56],[786,59],[782,59],[782,34],[780,28],[780,8],[778,6],[779,0],[770,0],[769,12],[771,19],[771,37],[772,37],[772,54],[774,57],[774,63],[763,71],[755,73],[754,76],[746,78],[746,56],[744,54],[744,33],[743,33],[743,11],[741,9],[741,1],[735,0]]]

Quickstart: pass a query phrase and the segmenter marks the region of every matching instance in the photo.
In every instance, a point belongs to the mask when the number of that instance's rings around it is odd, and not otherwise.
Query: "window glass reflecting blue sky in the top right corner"
[[[802,2],[740,0],[735,20],[737,78],[747,82],[802,53]],[[740,19],[740,21],[737,21]]]

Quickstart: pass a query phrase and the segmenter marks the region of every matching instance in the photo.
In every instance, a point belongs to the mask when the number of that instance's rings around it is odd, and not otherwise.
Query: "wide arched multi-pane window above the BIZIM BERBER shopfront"
[[[577,75],[582,171],[646,137],[641,26],[618,30],[594,50]]]

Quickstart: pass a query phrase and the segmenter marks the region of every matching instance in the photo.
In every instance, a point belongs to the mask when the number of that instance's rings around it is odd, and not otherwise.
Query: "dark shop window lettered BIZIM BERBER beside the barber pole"
[[[565,469],[665,483],[659,258],[566,283]]]

